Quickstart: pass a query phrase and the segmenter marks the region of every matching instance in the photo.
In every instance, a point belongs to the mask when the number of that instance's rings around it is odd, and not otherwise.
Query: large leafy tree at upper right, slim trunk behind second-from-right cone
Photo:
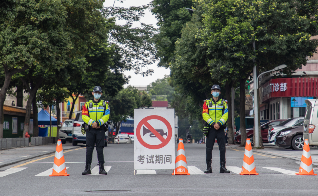
[[[209,63],[211,70],[220,68],[222,77],[236,75],[240,83],[244,146],[243,96],[245,99],[245,82],[252,67],[256,64],[265,71],[286,64],[288,68],[277,74],[290,75],[301,64],[305,65],[306,57],[312,56],[318,45],[317,40],[310,39],[318,34],[315,17],[318,2],[200,0],[199,3],[204,8],[202,32],[213,56]]]

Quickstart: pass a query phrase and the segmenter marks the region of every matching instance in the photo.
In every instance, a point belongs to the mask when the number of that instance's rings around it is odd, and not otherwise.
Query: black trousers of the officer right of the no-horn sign
[[[219,150],[220,150],[220,162],[225,162],[225,136],[224,129],[220,128],[218,130],[213,127],[209,129],[208,135],[206,136],[206,159],[205,161],[212,160],[212,150],[217,139]]]

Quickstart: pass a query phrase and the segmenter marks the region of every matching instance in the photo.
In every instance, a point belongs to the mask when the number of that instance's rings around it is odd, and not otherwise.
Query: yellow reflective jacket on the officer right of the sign
[[[227,101],[224,99],[208,99],[204,101],[202,116],[203,119],[214,125],[218,123],[220,126],[224,125],[229,115],[229,109],[227,108]]]

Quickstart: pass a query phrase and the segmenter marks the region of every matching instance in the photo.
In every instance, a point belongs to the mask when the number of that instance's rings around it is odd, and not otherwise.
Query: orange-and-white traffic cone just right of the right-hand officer
[[[258,175],[258,173],[256,172],[255,163],[254,163],[252,144],[249,138],[246,139],[242,172],[239,174],[240,175]]]

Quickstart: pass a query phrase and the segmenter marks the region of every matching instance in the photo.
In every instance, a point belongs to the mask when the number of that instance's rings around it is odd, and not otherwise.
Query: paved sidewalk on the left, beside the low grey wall
[[[63,144],[63,150],[79,148],[82,146],[73,146],[72,143]],[[47,144],[41,146],[29,146],[23,148],[12,148],[0,151],[0,168],[25,161],[35,157],[54,153],[56,144]]]

